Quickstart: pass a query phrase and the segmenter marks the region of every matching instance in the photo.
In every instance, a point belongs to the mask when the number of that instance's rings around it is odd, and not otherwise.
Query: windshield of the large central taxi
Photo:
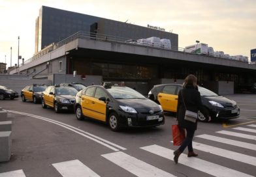
[[[146,98],[136,90],[129,87],[111,87],[107,89],[115,99],[144,99]]]

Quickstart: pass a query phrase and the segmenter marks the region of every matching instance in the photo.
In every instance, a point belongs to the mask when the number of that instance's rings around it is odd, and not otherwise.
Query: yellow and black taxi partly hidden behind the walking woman
[[[229,119],[238,118],[240,108],[234,102],[223,96],[208,90],[204,87],[198,87],[202,104],[210,114],[212,119]],[[148,93],[148,98],[156,103],[159,103],[164,111],[177,112],[178,92],[182,89],[182,85],[178,84],[163,84],[155,85]],[[199,111],[199,120],[206,122],[206,117]]]

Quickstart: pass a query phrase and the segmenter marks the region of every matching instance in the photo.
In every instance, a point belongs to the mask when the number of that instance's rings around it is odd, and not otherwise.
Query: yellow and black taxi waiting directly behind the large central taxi
[[[74,110],[74,100],[77,90],[73,87],[60,85],[49,86],[42,92],[42,108],[54,107],[54,111]]]

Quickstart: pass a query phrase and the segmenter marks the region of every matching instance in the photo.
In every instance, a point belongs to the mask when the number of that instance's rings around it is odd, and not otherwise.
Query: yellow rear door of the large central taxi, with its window
[[[89,116],[91,118],[94,118],[94,113],[92,109],[92,102],[94,102],[94,92],[96,87],[88,87],[86,89],[85,94],[82,94],[81,98],[81,107],[82,107],[82,113],[84,116]]]

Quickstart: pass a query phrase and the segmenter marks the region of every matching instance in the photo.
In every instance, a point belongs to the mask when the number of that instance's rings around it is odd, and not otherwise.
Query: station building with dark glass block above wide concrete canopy
[[[171,49],[129,42],[152,36],[170,39]],[[99,76],[101,81],[124,81],[142,94],[153,85],[182,83],[195,74],[200,85],[232,94],[256,82],[256,65],[186,53],[178,46],[178,34],[43,6],[36,20],[35,55],[10,74],[53,83],[57,75],[67,81],[67,75],[76,74],[85,82]]]

